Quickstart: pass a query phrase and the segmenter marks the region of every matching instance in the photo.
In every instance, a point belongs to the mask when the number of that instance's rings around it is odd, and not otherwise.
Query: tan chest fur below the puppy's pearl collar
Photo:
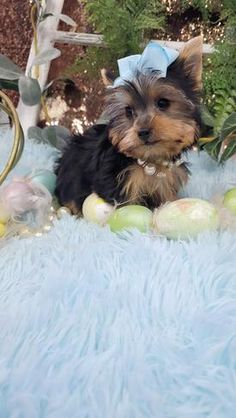
[[[141,203],[143,197],[152,197],[157,205],[173,201],[177,198],[179,188],[186,183],[186,171],[177,166],[164,168],[157,167],[162,171],[159,176],[149,176],[145,174],[144,169],[138,164],[133,164],[120,174],[120,179],[127,175],[127,181],[123,188],[127,201],[132,203]]]

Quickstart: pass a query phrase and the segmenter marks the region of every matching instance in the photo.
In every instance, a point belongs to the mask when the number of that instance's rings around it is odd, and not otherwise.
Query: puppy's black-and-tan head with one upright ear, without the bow
[[[187,42],[167,76],[137,73],[108,89],[110,140],[121,153],[146,161],[172,159],[199,135],[202,37]],[[103,79],[108,84],[103,73]]]

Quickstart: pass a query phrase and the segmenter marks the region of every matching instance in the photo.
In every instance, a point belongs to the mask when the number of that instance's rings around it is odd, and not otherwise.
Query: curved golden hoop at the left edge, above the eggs
[[[0,111],[3,111],[8,115],[8,117],[11,120],[12,126],[14,127],[14,141],[10,152],[10,156],[8,158],[6,166],[4,167],[2,172],[0,172],[0,184],[2,184],[21,157],[24,148],[24,134],[19,122],[16,109],[12,101],[2,91],[0,91]]]

